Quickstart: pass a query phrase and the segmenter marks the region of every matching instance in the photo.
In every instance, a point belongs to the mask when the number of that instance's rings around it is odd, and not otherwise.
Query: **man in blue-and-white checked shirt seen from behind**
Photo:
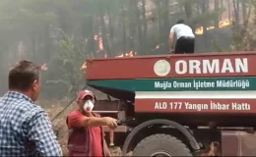
[[[9,91],[0,99],[0,156],[62,156],[47,113],[34,104],[39,72],[30,61],[9,72]]]

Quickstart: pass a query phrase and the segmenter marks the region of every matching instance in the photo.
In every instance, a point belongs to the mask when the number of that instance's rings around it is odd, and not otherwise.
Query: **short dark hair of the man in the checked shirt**
[[[26,91],[35,79],[39,79],[40,66],[30,61],[21,61],[9,72],[9,89]]]

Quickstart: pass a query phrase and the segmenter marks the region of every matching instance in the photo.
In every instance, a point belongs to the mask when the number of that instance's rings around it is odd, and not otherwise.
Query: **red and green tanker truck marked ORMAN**
[[[256,52],[88,60],[86,75],[123,155],[256,155]]]

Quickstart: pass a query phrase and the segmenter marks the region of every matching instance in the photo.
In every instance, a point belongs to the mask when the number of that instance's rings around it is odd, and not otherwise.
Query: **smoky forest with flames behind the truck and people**
[[[0,0],[0,95],[19,60],[46,64],[40,99],[71,97],[88,58],[165,54],[180,18],[196,52],[255,49],[255,0]],[[104,70],[107,71],[107,70]]]

